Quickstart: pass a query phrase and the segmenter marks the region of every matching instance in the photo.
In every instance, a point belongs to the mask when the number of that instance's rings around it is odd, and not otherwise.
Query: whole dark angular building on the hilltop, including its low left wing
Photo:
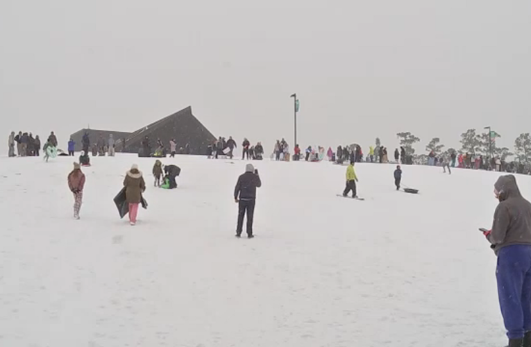
[[[168,150],[169,141],[175,139],[177,150],[180,147],[185,148],[186,144],[189,144],[192,154],[206,154],[208,145],[216,140],[216,137],[192,114],[192,107],[190,106],[152,124],[143,126],[133,133],[108,130],[79,130],[71,135],[76,142],[76,151],[81,151],[81,138],[85,131],[90,132],[91,143],[97,142],[100,134],[103,135],[104,139],[108,139],[109,135],[112,134],[116,141],[116,151],[124,153],[139,153],[140,149],[142,149],[142,142],[144,142],[146,137],[148,137],[153,151],[158,139],[162,141]]]

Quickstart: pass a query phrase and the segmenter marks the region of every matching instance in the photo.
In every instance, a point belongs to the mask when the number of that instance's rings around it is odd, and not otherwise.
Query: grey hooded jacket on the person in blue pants
[[[498,254],[513,244],[531,245],[531,203],[520,194],[513,175],[501,176],[494,185],[500,203],[494,212],[491,234],[487,237]]]

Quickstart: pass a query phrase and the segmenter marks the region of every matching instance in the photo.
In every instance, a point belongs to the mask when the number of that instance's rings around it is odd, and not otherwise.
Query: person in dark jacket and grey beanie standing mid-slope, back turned
[[[247,213],[247,237],[252,239],[253,235],[253,217],[255,214],[256,188],[262,186],[262,180],[255,170],[253,164],[247,164],[245,174],[239,176],[238,182],[234,189],[234,201],[239,204],[238,225],[236,228],[236,237],[242,235],[244,226],[244,217]]]

